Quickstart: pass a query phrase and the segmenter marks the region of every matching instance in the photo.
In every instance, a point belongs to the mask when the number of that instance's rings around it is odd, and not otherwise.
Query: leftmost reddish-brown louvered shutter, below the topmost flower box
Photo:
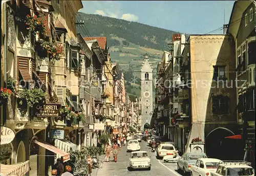
[[[29,73],[29,58],[18,57],[18,70],[25,82],[31,81],[31,75]]]

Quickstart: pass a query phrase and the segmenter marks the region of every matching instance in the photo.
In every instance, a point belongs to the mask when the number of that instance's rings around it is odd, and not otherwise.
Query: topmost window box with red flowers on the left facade
[[[40,36],[45,36],[46,26],[44,25],[44,20],[42,18],[37,15],[31,16],[28,14],[24,22],[27,30],[29,30],[33,35],[38,33]]]

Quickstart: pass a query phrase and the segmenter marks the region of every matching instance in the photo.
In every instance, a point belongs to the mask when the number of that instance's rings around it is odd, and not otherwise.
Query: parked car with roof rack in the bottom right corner
[[[246,161],[223,161],[220,163],[216,172],[211,171],[211,176],[254,176],[254,169],[251,163]]]

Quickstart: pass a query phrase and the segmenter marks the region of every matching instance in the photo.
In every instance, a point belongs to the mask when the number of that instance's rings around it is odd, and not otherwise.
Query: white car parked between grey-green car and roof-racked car
[[[197,160],[196,164],[191,167],[191,175],[209,175],[211,171],[216,172],[220,163],[222,163],[222,161],[219,159],[200,158]]]

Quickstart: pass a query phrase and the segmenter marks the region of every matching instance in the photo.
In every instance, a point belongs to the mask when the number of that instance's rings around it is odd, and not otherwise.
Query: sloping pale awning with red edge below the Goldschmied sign
[[[57,148],[57,147],[55,147],[51,144],[48,144],[44,141],[39,142],[37,140],[34,140],[34,143],[36,143],[37,145],[39,145],[41,147],[44,147],[47,150],[50,150],[50,151],[56,153],[60,157],[63,157],[63,162],[66,162],[66,161],[70,160],[70,154],[66,151],[62,151],[59,148]]]

